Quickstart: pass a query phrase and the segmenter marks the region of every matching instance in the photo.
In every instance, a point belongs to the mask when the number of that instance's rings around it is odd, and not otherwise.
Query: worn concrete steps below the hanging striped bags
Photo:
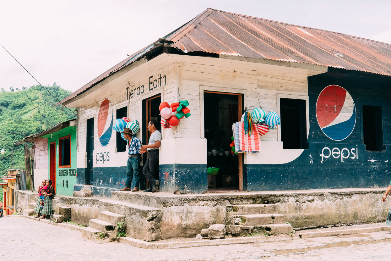
[[[283,235],[293,233],[284,215],[277,214],[276,204],[226,206],[226,232],[233,235]]]

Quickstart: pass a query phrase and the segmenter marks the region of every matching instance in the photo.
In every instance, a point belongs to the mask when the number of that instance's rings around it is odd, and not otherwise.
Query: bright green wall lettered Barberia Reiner
[[[75,130],[74,130],[75,129]],[[71,135],[71,167],[58,167],[59,151],[58,139]],[[62,130],[48,134],[48,177],[50,176],[50,142],[56,141],[56,193],[61,196],[72,196],[73,186],[76,184],[76,127],[69,126]]]

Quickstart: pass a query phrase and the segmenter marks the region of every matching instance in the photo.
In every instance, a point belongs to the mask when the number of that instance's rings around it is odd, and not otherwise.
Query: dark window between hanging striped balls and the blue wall
[[[280,98],[281,141],[284,149],[308,149],[305,100]]]

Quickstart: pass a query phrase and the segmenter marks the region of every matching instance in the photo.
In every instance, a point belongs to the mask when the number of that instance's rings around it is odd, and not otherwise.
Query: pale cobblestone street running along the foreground
[[[22,217],[1,218],[2,260],[389,260],[391,233],[297,239],[271,243],[150,250],[97,244],[81,232]]]

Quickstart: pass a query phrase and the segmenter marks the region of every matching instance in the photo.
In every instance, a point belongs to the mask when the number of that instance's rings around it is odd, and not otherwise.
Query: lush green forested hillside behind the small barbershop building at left
[[[71,92],[60,86],[45,86],[57,99],[62,100]],[[11,87],[10,91],[0,90],[0,176],[11,168],[11,149],[13,149],[13,168],[24,169],[23,144],[15,146],[14,142],[50,128],[60,121],[75,118],[75,115],[61,105],[53,107],[58,101],[41,85],[23,87],[22,90]],[[71,108],[73,112],[74,109]],[[76,114],[76,112],[75,112]],[[31,145],[31,144],[30,144]],[[0,192],[0,201],[3,193]]]

